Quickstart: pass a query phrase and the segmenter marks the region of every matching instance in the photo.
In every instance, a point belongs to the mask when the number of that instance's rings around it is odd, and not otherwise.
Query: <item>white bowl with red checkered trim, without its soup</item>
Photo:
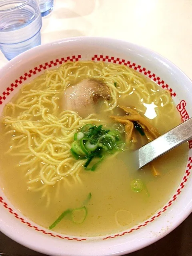
[[[33,48],[0,70],[0,105],[18,92],[22,84],[56,68],[67,60],[102,60],[127,65],[168,88],[182,120],[192,116],[192,82],[174,64],[141,46],[108,38],[69,38]],[[189,148],[192,142],[189,142]],[[102,237],[71,237],[38,226],[22,215],[0,190],[0,230],[24,246],[48,255],[106,256],[139,250],[162,238],[192,212],[190,175],[192,150],[180,185],[154,216],[130,230]]]

